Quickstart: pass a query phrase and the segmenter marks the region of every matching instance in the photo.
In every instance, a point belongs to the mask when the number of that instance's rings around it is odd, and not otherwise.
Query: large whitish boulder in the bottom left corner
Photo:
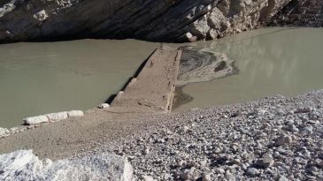
[[[133,180],[127,159],[104,153],[52,162],[39,160],[32,150],[0,155],[0,180]]]

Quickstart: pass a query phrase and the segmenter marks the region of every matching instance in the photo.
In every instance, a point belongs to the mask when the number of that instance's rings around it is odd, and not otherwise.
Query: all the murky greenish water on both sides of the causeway
[[[239,73],[183,87],[191,100],[174,111],[323,88],[322,28],[265,28],[189,45],[226,53]],[[23,117],[96,107],[118,93],[158,46],[134,40],[0,45],[0,127],[21,124]]]

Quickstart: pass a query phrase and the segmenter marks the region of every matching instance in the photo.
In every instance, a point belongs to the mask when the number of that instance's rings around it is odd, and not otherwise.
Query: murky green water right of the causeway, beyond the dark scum
[[[266,28],[193,45],[227,53],[240,72],[183,87],[194,99],[175,111],[323,88],[323,28]]]

